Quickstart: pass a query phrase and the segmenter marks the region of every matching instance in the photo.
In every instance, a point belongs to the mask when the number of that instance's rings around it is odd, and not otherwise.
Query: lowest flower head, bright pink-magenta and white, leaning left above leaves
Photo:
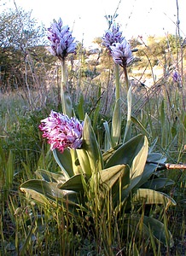
[[[39,129],[43,131],[43,137],[48,139],[50,149],[59,149],[61,153],[65,148],[81,148],[83,138],[83,123],[78,119],[51,111],[49,117],[41,120]]]

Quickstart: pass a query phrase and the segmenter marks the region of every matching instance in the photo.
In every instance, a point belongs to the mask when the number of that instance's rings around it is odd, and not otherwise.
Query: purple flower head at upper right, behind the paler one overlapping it
[[[102,44],[110,49],[113,43],[121,43],[123,41],[122,32],[119,32],[119,25],[113,24],[111,29],[106,31],[102,37]]]

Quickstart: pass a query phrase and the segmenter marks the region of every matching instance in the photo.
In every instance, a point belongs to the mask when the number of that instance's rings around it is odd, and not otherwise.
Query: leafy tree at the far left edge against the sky
[[[38,46],[44,45],[44,27],[37,26],[31,12],[9,9],[0,16],[1,90],[34,84],[32,72]],[[37,47],[37,51],[34,49]],[[44,51],[44,46],[41,46]],[[46,50],[45,50],[46,51]]]

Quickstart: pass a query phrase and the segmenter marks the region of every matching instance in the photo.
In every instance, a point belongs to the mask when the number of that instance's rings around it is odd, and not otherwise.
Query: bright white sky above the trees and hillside
[[[5,3],[3,5],[3,3]],[[118,14],[116,22],[126,39],[176,34],[177,3],[181,36],[186,37],[186,0],[0,0],[0,12],[16,6],[32,11],[44,26],[61,17],[73,37],[89,46],[108,29],[105,15]]]

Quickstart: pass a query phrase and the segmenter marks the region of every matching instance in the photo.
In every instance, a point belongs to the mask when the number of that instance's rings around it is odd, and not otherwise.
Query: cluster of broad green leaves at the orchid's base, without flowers
[[[128,114],[131,119],[131,113]],[[104,126],[109,148],[106,152],[102,154],[90,118],[86,114],[82,148],[65,149],[63,154],[55,149],[53,154],[61,172],[38,170],[36,175],[39,179],[23,183],[20,190],[39,203],[49,204],[51,207],[60,205],[65,210],[68,205],[67,211],[71,214],[82,211],[84,216],[84,212],[92,212],[91,217],[96,216],[96,221],[102,211],[110,211],[104,207],[111,207],[113,214],[120,216],[124,208],[131,211],[132,207],[142,204],[175,206],[176,202],[169,195],[157,191],[171,185],[171,180],[157,175],[150,179],[157,166],[163,164],[166,158],[158,153],[148,154],[148,139],[143,135],[128,140],[130,127],[126,130],[126,142],[119,145],[116,142],[119,138],[117,127],[115,126],[115,133],[111,137],[108,123]],[[115,143],[113,134],[118,137]],[[116,145],[110,148],[111,144]],[[127,218],[128,223],[137,227],[140,222],[147,236],[167,242],[169,231],[164,233],[163,224],[159,221],[148,216],[139,218],[132,215]],[[169,238],[171,243],[171,234]]]

